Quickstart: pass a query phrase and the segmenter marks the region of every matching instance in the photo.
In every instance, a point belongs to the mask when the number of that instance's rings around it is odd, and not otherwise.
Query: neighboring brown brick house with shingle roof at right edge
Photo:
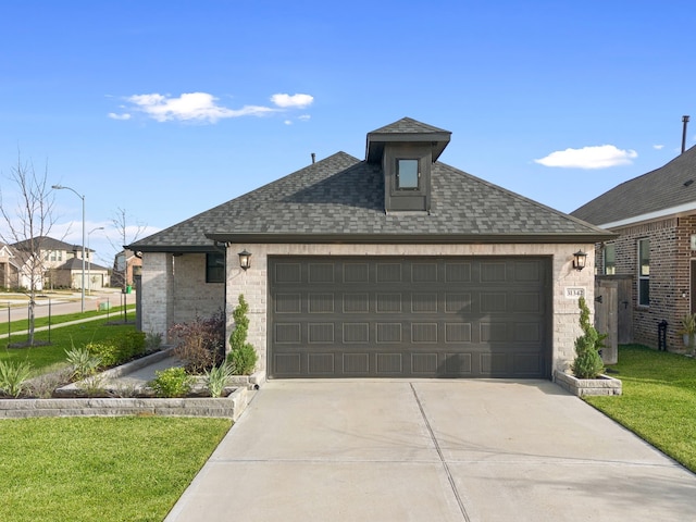
[[[658,347],[667,321],[667,348],[683,348],[681,320],[696,312],[695,182],[692,148],[571,214],[619,235],[598,245],[596,266],[599,277],[627,281],[618,299],[619,322],[629,323],[623,343]]]

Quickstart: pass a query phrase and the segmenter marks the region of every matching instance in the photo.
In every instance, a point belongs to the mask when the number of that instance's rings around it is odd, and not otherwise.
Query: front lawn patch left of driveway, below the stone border
[[[63,418],[0,422],[0,520],[161,521],[232,421]]]

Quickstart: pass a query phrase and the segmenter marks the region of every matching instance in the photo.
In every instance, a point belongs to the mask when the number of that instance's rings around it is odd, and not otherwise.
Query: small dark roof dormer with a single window
[[[431,165],[450,136],[410,117],[368,134],[365,160],[382,164],[386,212],[431,210]]]

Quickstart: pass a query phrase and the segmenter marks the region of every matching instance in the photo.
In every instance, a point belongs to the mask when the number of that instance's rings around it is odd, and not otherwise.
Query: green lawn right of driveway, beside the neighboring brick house
[[[696,359],[627,345],[610,368],[623,395],[586,401],[696,472]]]

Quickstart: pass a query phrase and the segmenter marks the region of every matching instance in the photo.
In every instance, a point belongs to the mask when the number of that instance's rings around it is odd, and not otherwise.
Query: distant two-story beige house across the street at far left
[[[42,287],[45,288],[82,288],[83,247],[71,245],[48,236],[15,243],[12,247],[20,252],[38,249],[40,258]],[[110,285],[109,269],[92,262],[94,250],[85,249],[85,289],[102,288]],[[91,273],[94,272],[94,273]],[[89,276],[88,276],[89,274]]]

